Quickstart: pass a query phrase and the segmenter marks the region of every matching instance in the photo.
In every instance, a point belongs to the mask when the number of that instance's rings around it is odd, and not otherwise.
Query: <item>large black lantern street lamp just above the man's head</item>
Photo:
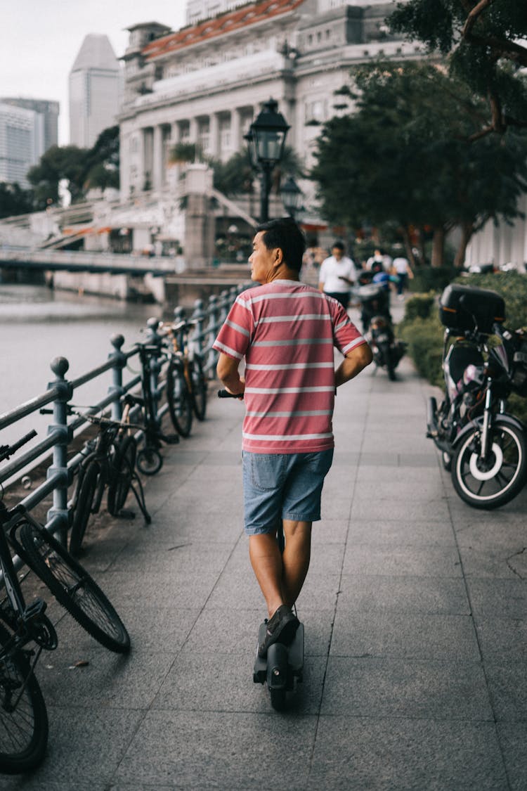
[[[271,190],[271,173],[273,168],[284,156],[285,136],[288,134],[288,123],[278,112],[278,103],[274,99],[266,101],[253,123],[245,139],[249,143],[250,163],[262,174],[260,184],[260,221],[269,219],[269,191]]]

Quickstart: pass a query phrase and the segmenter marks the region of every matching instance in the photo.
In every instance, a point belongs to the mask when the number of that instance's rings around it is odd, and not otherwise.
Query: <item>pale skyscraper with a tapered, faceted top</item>
[[[115,124],[119,112],[120,69],[110,40],[89,33],[70,71],[70,143],[91,148]]]

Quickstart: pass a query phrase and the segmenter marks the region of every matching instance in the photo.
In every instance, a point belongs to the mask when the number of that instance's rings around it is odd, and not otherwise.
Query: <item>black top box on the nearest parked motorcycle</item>
[[[505,321],[505,301],[495,291],[450,283],[439,300],[439,319],[451,330],[491,334],[494,324]]]

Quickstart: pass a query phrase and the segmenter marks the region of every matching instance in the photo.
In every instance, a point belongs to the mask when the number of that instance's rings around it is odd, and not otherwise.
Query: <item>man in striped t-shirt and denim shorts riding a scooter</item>
[[[213,344],[217,375],[243,396],[243,498],[250,562],[269,621],[258,654],[292,640],[292,605],[320,519],[322,485],[333,459],[335,388],[371,362],[371,350],[344,308],[299,282],[305,250],[292,218],[258,226],[250,274],[260,286],[236,298]],[[334,369],[333,346],[344,354]],[[245,377],[239,364],[245,358]],[[280,554],[277,522],[284,525]]]

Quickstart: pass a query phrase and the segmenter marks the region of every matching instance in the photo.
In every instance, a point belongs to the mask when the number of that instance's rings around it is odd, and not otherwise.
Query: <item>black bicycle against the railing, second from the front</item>
[[[107,510],[112,517],[122,512],[130,490],[137,505],[150,524],[152,518],[145,505],[141,479],[135,472],[137,440],[130,423],[130,408],[137,399],[127,394],[121,421],[82,414],[82,417],[99,427],[96,437],[85,444],[85,458],[78,467],[77,486],[70,501],[70,552],[77,555],[85,536],[91,514],[99,513],[104,491],[107,490]],[[70,407],[70,412],[78,413]],[[135,485],[134,485],[135,484]]]

